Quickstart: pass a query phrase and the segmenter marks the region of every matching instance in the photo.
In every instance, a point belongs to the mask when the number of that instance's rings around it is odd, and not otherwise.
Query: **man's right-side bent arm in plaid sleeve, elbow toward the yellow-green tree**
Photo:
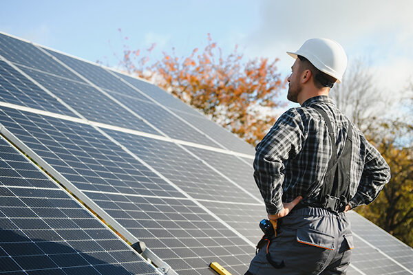
[[[362,138],[366,143],[366,159],[357,192],[348,203],[350,208],[372,202],[390,180],[390,167],[385,159],[370,142]]]

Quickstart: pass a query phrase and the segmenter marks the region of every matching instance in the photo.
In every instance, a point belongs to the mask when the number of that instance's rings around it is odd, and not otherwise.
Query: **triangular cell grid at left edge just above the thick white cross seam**
[[[46,94],[3,61],[0,61],[0,101],[64,115],[74,115],[55,98]]]

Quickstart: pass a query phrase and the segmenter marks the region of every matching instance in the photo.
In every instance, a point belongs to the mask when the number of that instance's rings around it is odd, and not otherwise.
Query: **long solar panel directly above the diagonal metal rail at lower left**
[[[91,126],[14,109],[0,123],[179,274],[209,274],[199,248],[233,274],[246,270],[236,259],[251,260],[251,244]]]

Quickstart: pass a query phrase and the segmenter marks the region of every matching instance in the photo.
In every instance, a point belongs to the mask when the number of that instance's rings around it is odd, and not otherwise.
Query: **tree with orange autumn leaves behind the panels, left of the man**
[[[148,65],[149,55],[125,47],[120,67],[141,78],[152,80],[173,96],[200,109],[215,122],[256,144],[273,126],[276,116],[271,110],[284,106],[278,100],[286,84],[277,72],[277,61],[255,58],[244,62],[235,50],[227,56],[213,43],[203,52],[198,48],[186,57],[163,52],[160,61]],[[269,112],[268,112],[269,111]]]

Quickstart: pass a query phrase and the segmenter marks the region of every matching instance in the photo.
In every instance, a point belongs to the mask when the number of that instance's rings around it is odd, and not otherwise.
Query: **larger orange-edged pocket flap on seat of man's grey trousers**
[[[299,228],[297,230],[297,242],[313,245],[317,248],[324,248],[326,250],[335,250],[334,236],[330,236],[324,232],[319,232],[311,228]]]

